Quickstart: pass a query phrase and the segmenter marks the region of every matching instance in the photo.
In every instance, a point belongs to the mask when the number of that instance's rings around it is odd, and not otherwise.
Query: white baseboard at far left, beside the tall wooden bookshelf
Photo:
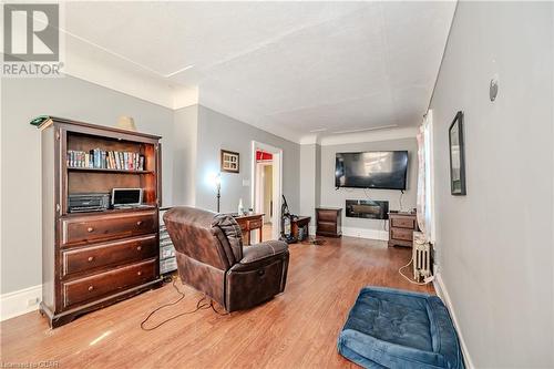
[[[42,285],[0,295],[0,321],[37,310],[42,299]]]

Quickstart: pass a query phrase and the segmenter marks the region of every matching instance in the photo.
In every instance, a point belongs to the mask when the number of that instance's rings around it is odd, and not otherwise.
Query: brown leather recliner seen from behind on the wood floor
[[[288,246],[268,240],[243,248],[243,234],[230,215],[188,206],[164,214],[175,246],[181,280],[227,311],[246,309],[285,290]]]

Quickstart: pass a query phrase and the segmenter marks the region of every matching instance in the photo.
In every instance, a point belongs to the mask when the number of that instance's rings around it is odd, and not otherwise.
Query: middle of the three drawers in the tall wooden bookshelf
[[[62,275],[72,275],[106,266],[140,262],[156,256],[156,235],[99,244],[62,252]]]

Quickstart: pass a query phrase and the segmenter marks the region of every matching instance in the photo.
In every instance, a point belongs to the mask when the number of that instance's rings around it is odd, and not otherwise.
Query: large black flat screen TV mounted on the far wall
[[[335,186],[406,189],[407,151],[337,153]]]

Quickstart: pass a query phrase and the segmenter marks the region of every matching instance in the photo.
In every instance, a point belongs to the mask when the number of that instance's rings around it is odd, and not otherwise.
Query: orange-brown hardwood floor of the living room
[[[54,330],[30,312],[1,324],[0,361],[57,361],[59,368],[355,368],[336,344],[361,287],[434,293],[399,276],[410,249],[350,237],[289,248],[285,293],[254,309],[226,316],[199,310],[143,331],[140,324],[150,311],[178,298],[165,285]],[[177,286],[186,297],[152,325],[196,306],[201,294]]]

